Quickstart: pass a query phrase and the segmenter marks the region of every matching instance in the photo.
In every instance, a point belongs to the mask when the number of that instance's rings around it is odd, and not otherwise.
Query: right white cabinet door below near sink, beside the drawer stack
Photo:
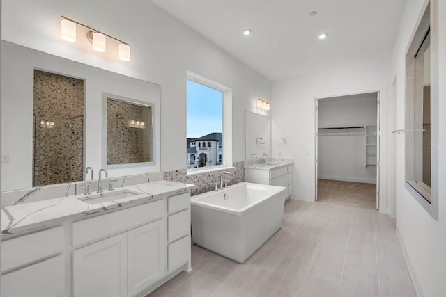
[[[162,278],[166,270],[165,221],[130,230],[128,238],[128,296]]]

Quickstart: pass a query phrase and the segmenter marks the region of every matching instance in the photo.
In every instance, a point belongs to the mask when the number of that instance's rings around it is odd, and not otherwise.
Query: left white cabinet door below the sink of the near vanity
[[[72,252],[73,296],[127,296],[127,234]]]

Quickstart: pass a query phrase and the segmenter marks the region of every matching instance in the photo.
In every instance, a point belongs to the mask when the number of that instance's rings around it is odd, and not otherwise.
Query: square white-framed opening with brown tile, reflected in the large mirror
[[[103,167],[148,166],[153,163],[153,109],[153,104],[147,102],[103,95]]]

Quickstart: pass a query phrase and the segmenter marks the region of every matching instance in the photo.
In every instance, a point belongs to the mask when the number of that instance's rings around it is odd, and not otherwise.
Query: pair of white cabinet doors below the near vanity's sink
[[[73,251],[73,296],[135,296],[165,271],[164,221]]]

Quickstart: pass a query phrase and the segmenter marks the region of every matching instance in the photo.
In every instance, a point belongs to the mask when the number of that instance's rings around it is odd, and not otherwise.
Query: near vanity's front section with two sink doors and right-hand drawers
[[[145,296],[190,270],[190,193],[75,222],[73,244],[74,297]]]

